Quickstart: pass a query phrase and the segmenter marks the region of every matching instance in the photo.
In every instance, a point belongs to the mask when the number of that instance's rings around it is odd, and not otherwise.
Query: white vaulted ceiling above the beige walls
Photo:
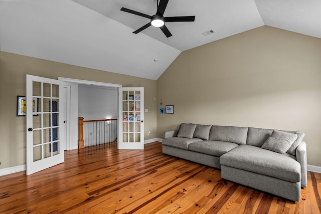
[[[149,20],[122,7],[151,16],[156,1],[0,1],[1,51],[156,80],[182,51],[263,25],[321,38],[321,0],[170,0],[165,17],[196,16],[170,38],[132,34]]]

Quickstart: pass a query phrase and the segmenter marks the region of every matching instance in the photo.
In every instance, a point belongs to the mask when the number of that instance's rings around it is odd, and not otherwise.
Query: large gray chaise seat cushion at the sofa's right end
[[[240,145],[223,154],[220,163],[290,182],[301,180],[301,166],[293,155],[280,154],[256,146]]]

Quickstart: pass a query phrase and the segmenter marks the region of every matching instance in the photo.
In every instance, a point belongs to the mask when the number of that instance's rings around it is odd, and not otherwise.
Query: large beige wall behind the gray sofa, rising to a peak
[[[159,138],[182,122],[300,130],[321,166],[321,39],[263,26],[182,52],[161,98],[175,113],[157,113]]]

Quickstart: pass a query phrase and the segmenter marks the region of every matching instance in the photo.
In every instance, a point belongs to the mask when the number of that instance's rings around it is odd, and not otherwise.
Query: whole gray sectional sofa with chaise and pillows
[[[222,178],[289,200],[306,187],[304,133],[182,123],[165,132],[163,153],[221,169]]]

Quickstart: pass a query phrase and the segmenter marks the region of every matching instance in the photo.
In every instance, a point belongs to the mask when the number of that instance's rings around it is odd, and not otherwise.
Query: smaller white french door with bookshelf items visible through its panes
[[[144,149],[144,88],[118,90],[118,149]]]

